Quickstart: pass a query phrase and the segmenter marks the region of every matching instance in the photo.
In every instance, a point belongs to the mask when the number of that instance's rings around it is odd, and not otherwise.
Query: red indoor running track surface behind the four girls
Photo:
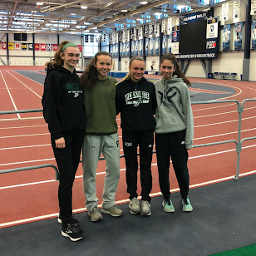
[[[41,96],[43,86],[36,81],[17,74],[12,69],[27,70],[26,67],[10,67],[10,70],[0,69],[0,111],[42,108]],[[29,70],[43,70],[43,67],[33,66]],[[150,76],[159,78],[159,76]],[[220,81],[190,78],[190,81],[216,83],[230,86],[236,90],[229,100],[256,97],[256,83],[244,81]],[[8,90],[12,96],[8,93]],[[209,90],[211,90],[209,86]],[[256,102],[247,102],[244,106],[242,121],[242,138],[256,136]],[[234,103],[219,103],[193,106],[194,114],[194,145],[223,140],[237,140],[238,112]],[[7,170],[31,165],[53,164],[50,145],[50,135],[43,121],[42,113],[17,114],[0,116],[0,170]],[[120,126],[120,117],[118,125]],[[8,121],[3,121],[3,120]],[[119,130],[121,136],[121,130]],[[121,138],[120,138],[121,142]],[[121,145],[121,155],[122,143]],[[255,140],[243,143],[240,158],[240,174],[249,175],[255,171]],[[235,145],[213,145],[194,148],[189,151],[190,187],[219,182],[222,178],[232,177],[236,173]],[[100,161],[97,169],[97,196],[101,203],[101,194],[105,177],[105,161]],[[153,190],[152,194],[160,195],[158,173],[155,155],[152,161]],[[84,211],[84,195],[82,190],[81,165],[76,173],[73,188],[73,209],[75,212]],[[14,224],[26,223],[38,219],[56,216],[58,213],[57,187],[54,171],[51,168],[26,170],[16,173],[2,174],[0,179],[0,228]],[[231,177],[231,178],[230,178]],[[202,183],[206,184],[202,184]],[[170,169],[171,190],[178,188],[174,171]],[[140,193],[140,185],[138,189]],[[175,190],[176,191],[176,190]],[[118,203],[127,202],[125,179],[125,160],[121,159],[121,180],[116,193]],[[193,204],[193,198],[190,198]],[[124,201],[123,201],[124,200]],[[47,215],[47,216],[45,216]],[[35,219],[29,219],[35,218]],[[21,220],[19,222],[19,220]]]

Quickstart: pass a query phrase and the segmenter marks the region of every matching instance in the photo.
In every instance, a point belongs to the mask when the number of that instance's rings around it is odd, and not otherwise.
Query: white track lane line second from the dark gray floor
[[[256,145],[248,145],[248,146],[243,147],[242,149],[247,149],[247,148],[254,147],[254,146],[256,146]],[[231,151],[235,151],[235,149],[233,149],[233,150],[224,150],[224,151],[214,152],[214,153],[205,154],[205,155],[195,155],[195,156],[189,157],[189,160],[190,159],[201,158],[201,157],[204,157],[204,156],[219,155],[219,154],[223,154],[223,153],[229,153]],[[52,158],[51,160],[54,160],[54,158]],[[171,163],[171,160],[170,160],[170,163]],[[156,166],[156,165],[157,164],[154,163],[151,166]],[[121,171],[122,170],[126,170],[126,168],[125,169],[121,169]],[[102,171],[102,172],[96,173],[96,175],[105,175],[105,174],[106,174],[106,171]],[[82,178],[82,175],[76,176],[76,179],[78,179],[78,178]],[[37,181],[37,182],[32,182],[32,183],[24,183],[24,184],[20,184],[20,185],[10,185],[10,186],[5,186],[5,187],[0,187],[0,190],[12,189],[12,188],[22,187],[22,186],[27,186],[27,185],[37,185],[37,184],[42,184],[42,183],[54,182],[54,181],[56,181],[56,180],[43,180],[43,181]]]

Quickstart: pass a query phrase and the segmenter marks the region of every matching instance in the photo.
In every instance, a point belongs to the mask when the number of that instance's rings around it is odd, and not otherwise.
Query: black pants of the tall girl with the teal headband
[[[80,161],[85,131],[66,133],[63,136],[66,147],[56,148],[55,140],[52,139],[52,149],[59,170],[58,198],[62,225],[65,227],[72,217],[72,186]]]

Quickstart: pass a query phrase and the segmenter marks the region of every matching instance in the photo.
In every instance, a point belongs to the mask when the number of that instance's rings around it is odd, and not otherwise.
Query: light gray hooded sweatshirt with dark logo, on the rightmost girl
[[[190,92],[183,79],[173,76],[165,81],[155,81],[157,107],[155,133],[186,130],[186,149],[193,147],[194,121],[190,104]]]

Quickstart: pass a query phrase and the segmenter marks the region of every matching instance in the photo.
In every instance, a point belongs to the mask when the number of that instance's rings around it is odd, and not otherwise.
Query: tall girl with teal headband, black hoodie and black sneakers
[[[72,185],[79,165],[86,130],[83,91],[75,66],[80,51],[75,43],[64,41],[54,58],[47,62],[42,96],[43,116],[51,133],[52,149],[59,170],[58,221],[62,235],[77,241],[83,237],[78,220],[72,217]]]

